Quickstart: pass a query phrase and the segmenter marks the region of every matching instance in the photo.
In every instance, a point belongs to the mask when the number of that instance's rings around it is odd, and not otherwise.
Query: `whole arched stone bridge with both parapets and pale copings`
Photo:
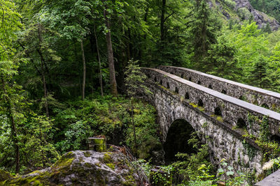
[[[153,93],[146,96],[158,111],[162,141],[172,123],[184,119],[209,146],[211,162],[218,165],[225,159],[236,171],[262,173],[265,149],[256,141],[264,135],[279,139],[280,114],[256,104],[276,108],[278,93],[186,68],[142,70]]]

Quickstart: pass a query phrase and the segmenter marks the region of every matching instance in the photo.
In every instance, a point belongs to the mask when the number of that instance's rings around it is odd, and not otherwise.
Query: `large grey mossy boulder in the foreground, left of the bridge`
[[[119,153],[77,150],[47,169],[18,177],[7,174],[0,185],[137,185],[137,178],[129,160]]]

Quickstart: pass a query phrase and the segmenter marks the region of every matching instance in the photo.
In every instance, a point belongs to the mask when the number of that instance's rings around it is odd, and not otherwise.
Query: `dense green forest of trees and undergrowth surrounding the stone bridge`
[[[219,2],[234,11],[235,1]],[[279,0],[250,2],[280,20]],[[150,157],[160,144],[155,110],[122,96],[130,96],[133,81],[125,78],[135,61],[280,92],[280,31],[268,24],[260,29],[245,13],[227,20],[209,4],[0,0],[0,169],[27,173],[49,166],[100,133]]]

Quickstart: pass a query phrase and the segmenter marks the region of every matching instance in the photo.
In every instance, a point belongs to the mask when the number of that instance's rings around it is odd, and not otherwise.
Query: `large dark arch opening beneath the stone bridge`
[[[167,164],[177,160],[177,153],[197,153],[188,140],[192,138],[195,132],[192,125],[184,119],[177,119],[172,123],[167,132],[167,139],[163,144],[165,150],[165,162]],[[198,137],[197,137],[198,138]]]

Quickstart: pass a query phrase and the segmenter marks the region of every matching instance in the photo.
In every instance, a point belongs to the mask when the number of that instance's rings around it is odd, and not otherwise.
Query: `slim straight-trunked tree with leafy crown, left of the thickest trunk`
[[[85,99],[86,61],[83,40],[90,33],[92,3],[84,0],[52,1],[42,9],[42,13],[45,15],[42,21],[51,29],[57,30],[69,41],[79,42],[83,63],[82,98]]]

